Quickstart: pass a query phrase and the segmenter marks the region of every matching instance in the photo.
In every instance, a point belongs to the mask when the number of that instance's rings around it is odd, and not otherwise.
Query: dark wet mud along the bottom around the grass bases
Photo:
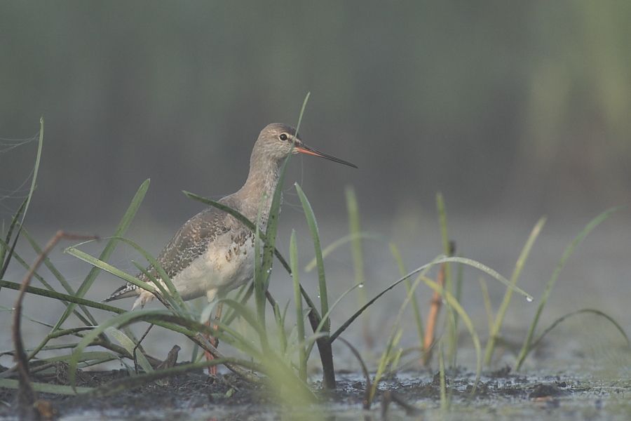
[[[46,377],[67,384],[63,366]],[[128,376],[125,370],[88,371],[78,385],[99,387]],[[275,401],[264,386],[251,385],[236,375],[209,377],[202,371],[170,377],[111,396],[55,396],[39,394],[43,411],[60,420],[397,420],[469,417],[479,420],[555,419],[628,420],[631,382],[577,378],[570,375],[526,375],[509,368],[485,373],[472,393],[474,374],[447,373],[451,408],[440,410],[440,380],[436,373],[405,372],[379,384],[370,410],[363,410],[365,380],[355,373],[339,373],[334,392],[317,392],[320,403],[289,408]],[[45,380],[42,378],[34,380]],[[319,389],[313,382],[313,389]],[[0,390],[0,419],[17,419],[15,392]],[[50,407],[46,406],[50,403]]]

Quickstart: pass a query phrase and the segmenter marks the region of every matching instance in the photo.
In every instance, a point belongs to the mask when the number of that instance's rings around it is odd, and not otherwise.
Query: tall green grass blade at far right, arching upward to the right
[[[598,225],[601,224],[601,222],[609,218],[609,216],[611,216],[611,214],[616,212],[616,210],[618,210],[619,208],[620,207],[610,208],[608,210],[605,210],[603,213],[597,215],[597,217],[592,219],[588,223],[588,225],[585,225],[585,228],[583,228],[583,231],[578,233],[578,235],[574,237],[571,243],[569,243],[569,245],[564,250],[563,255],[561,256],[561,259],[557,263],[557,267],[555,267],[555,270],[554,272],[552,272],[552,276],[550,277],[548,284],[546,284],[545,286],[545,290],[543,290],[541,301],[539,302],[534,319],[528,329],[528,334],[526,336],[526,339],[524,340],[524,345],[522,345],[520,354],[517,356],[517,362],[515,363],[515,370],[519,370],[522,367],[522,364],[524,363],[526,356],[530,352],[532,338],[537,328],[539,316],[541,316],[541,312],[543,312],[543,307],[545,307],[545,304],[548,302],[548,298],[550,298],[550,293],[552,292],[552,288],[554,288],[555,283],[557,282],[557,279],[559,277],[559,274],[561,273],[561,270],[565,267],[565,263],[567,262],[569,257],[572,255],[572,253],[574,253],[574,250],[576,249],[576,247],[578,247],[578,245],[583,242],[585,237],[588,236],[590,232],[592,232],[592,229],[595,229],[595,227],[597,227]]]

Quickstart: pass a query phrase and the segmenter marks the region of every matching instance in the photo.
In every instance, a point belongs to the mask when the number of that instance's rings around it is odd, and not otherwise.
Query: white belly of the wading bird
[[[217,293],[227,293],[254,277],[252,241],[248,239],[244,244],[237,244],[217,240],[173,277],[173,285],[182,299],[192,300],[206,295],[212,301]]]

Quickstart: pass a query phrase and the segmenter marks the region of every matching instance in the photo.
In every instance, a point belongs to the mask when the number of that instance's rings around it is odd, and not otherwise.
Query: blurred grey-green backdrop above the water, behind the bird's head
[[[147,215],[182,222],[199,205],[179,191],[238,189],[308,91],[306,143],[360,167],[292,164],[320,216],[345,185],[376,218],[438,190],[462,215],[631,196],[628,0],[3,1],[0,32],[0,137],[44,116],[29,218],[53,227],[114,224],[144,178]],[[0,154],[3,218],[33,159]]]

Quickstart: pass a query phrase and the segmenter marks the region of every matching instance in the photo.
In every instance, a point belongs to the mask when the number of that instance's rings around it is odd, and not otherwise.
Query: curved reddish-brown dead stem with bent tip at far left
[[[53,238],[48,241],[46,247],[44,247],[41,253],[39,253],[35,262],[29,268],[29,271],[22,280],[20,293],[18,293],[18,300],[15,301],[12,330],[13,346],[15,347],[15,355],[13,356],[13,358],[15,359],[15,363],[18,367],[18,375],[20,380],[20,389],[18,390],[18,411],[21,419],[39,419],[39,412],[37,412],[33,406],[36,396],[30,382],[28,358],[25,352],[24,342],[22,342],[22,335],[20,334],[20,325],[22,321],[22,301],[24,300],[24,297],[26,295],[26,290],[29,286],[29,283],[31,282],[31,279],[33,278],[33,274],[39,268],[39,265],[41,265],[43,260],[46,259],[48,253],[50,253],[50,250],[52,250],[61,239],[86,240],[95,238],[95,236],[67,234],[63,231],[57,231],[55,236],[53,236]]]

